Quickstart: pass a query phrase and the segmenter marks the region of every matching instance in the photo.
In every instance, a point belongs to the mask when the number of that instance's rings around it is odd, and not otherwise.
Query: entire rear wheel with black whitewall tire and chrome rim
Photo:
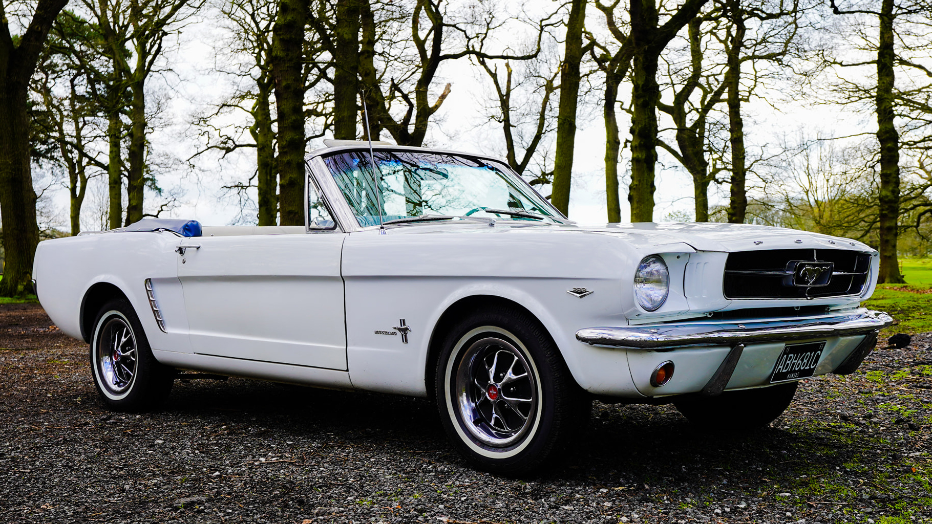
[[[90,340],[90,369],[103,403],[113,410],[158,406],[171,391],[172,369],[159,364],[130,302],[101,308]]]

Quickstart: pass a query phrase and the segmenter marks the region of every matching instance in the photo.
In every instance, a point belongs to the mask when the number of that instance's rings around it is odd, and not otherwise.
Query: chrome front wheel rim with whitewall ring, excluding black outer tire
[[[538,377],[524,352],[502,338],[482,338],[463,352],[454,392],[463,425],[489,447],[513,445],[535,422]]]

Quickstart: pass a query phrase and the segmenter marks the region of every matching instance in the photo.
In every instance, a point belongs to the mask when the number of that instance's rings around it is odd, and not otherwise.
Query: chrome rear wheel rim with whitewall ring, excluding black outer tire
[[[97,336],[97,374],[103,387],[119,395],[130,388],[139,366],[136,337],[129,322],[117,315],[104,321]]]

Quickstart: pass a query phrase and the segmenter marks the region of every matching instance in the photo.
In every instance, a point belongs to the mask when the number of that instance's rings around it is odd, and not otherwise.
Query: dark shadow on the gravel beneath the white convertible
[[[436,452],[448,465],[468,467],[448,444],[432,401],[424,398],[331,391],[245,379],[191,380],[175,383],[162,414],[182,419],[211,417],[214,422],[247,425],[252,434],[296,440],[308,435],[334,440],[363,439],[406,452]],[[736,414],[735,416],[740,416]],[[786,421],[785,421],[786,422]],[[261,427],[261,429],[255,429]],[[560,480],[614,473],[614,480],[656,483],[677,479],[766,477],[775,464],[842,465],[869,461],[870,447],[826,447],[826,436],[801,435],[779,426],[729,434],[702,433],[670,405],[612,405],[595,402],[588,427],[554,464],[534,476]],[[803,468],[804,469],[804,468]],[[608,477],[606,478],[608,479]],[[727,483],[727,481],[726,481]]]

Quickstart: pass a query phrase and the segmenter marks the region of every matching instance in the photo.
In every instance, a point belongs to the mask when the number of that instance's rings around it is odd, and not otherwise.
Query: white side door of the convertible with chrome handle
[[[324,227],[185,238],[178,277],[195,353],[347,369],[340,276],[347,235],[329,217],[315,222]]]

